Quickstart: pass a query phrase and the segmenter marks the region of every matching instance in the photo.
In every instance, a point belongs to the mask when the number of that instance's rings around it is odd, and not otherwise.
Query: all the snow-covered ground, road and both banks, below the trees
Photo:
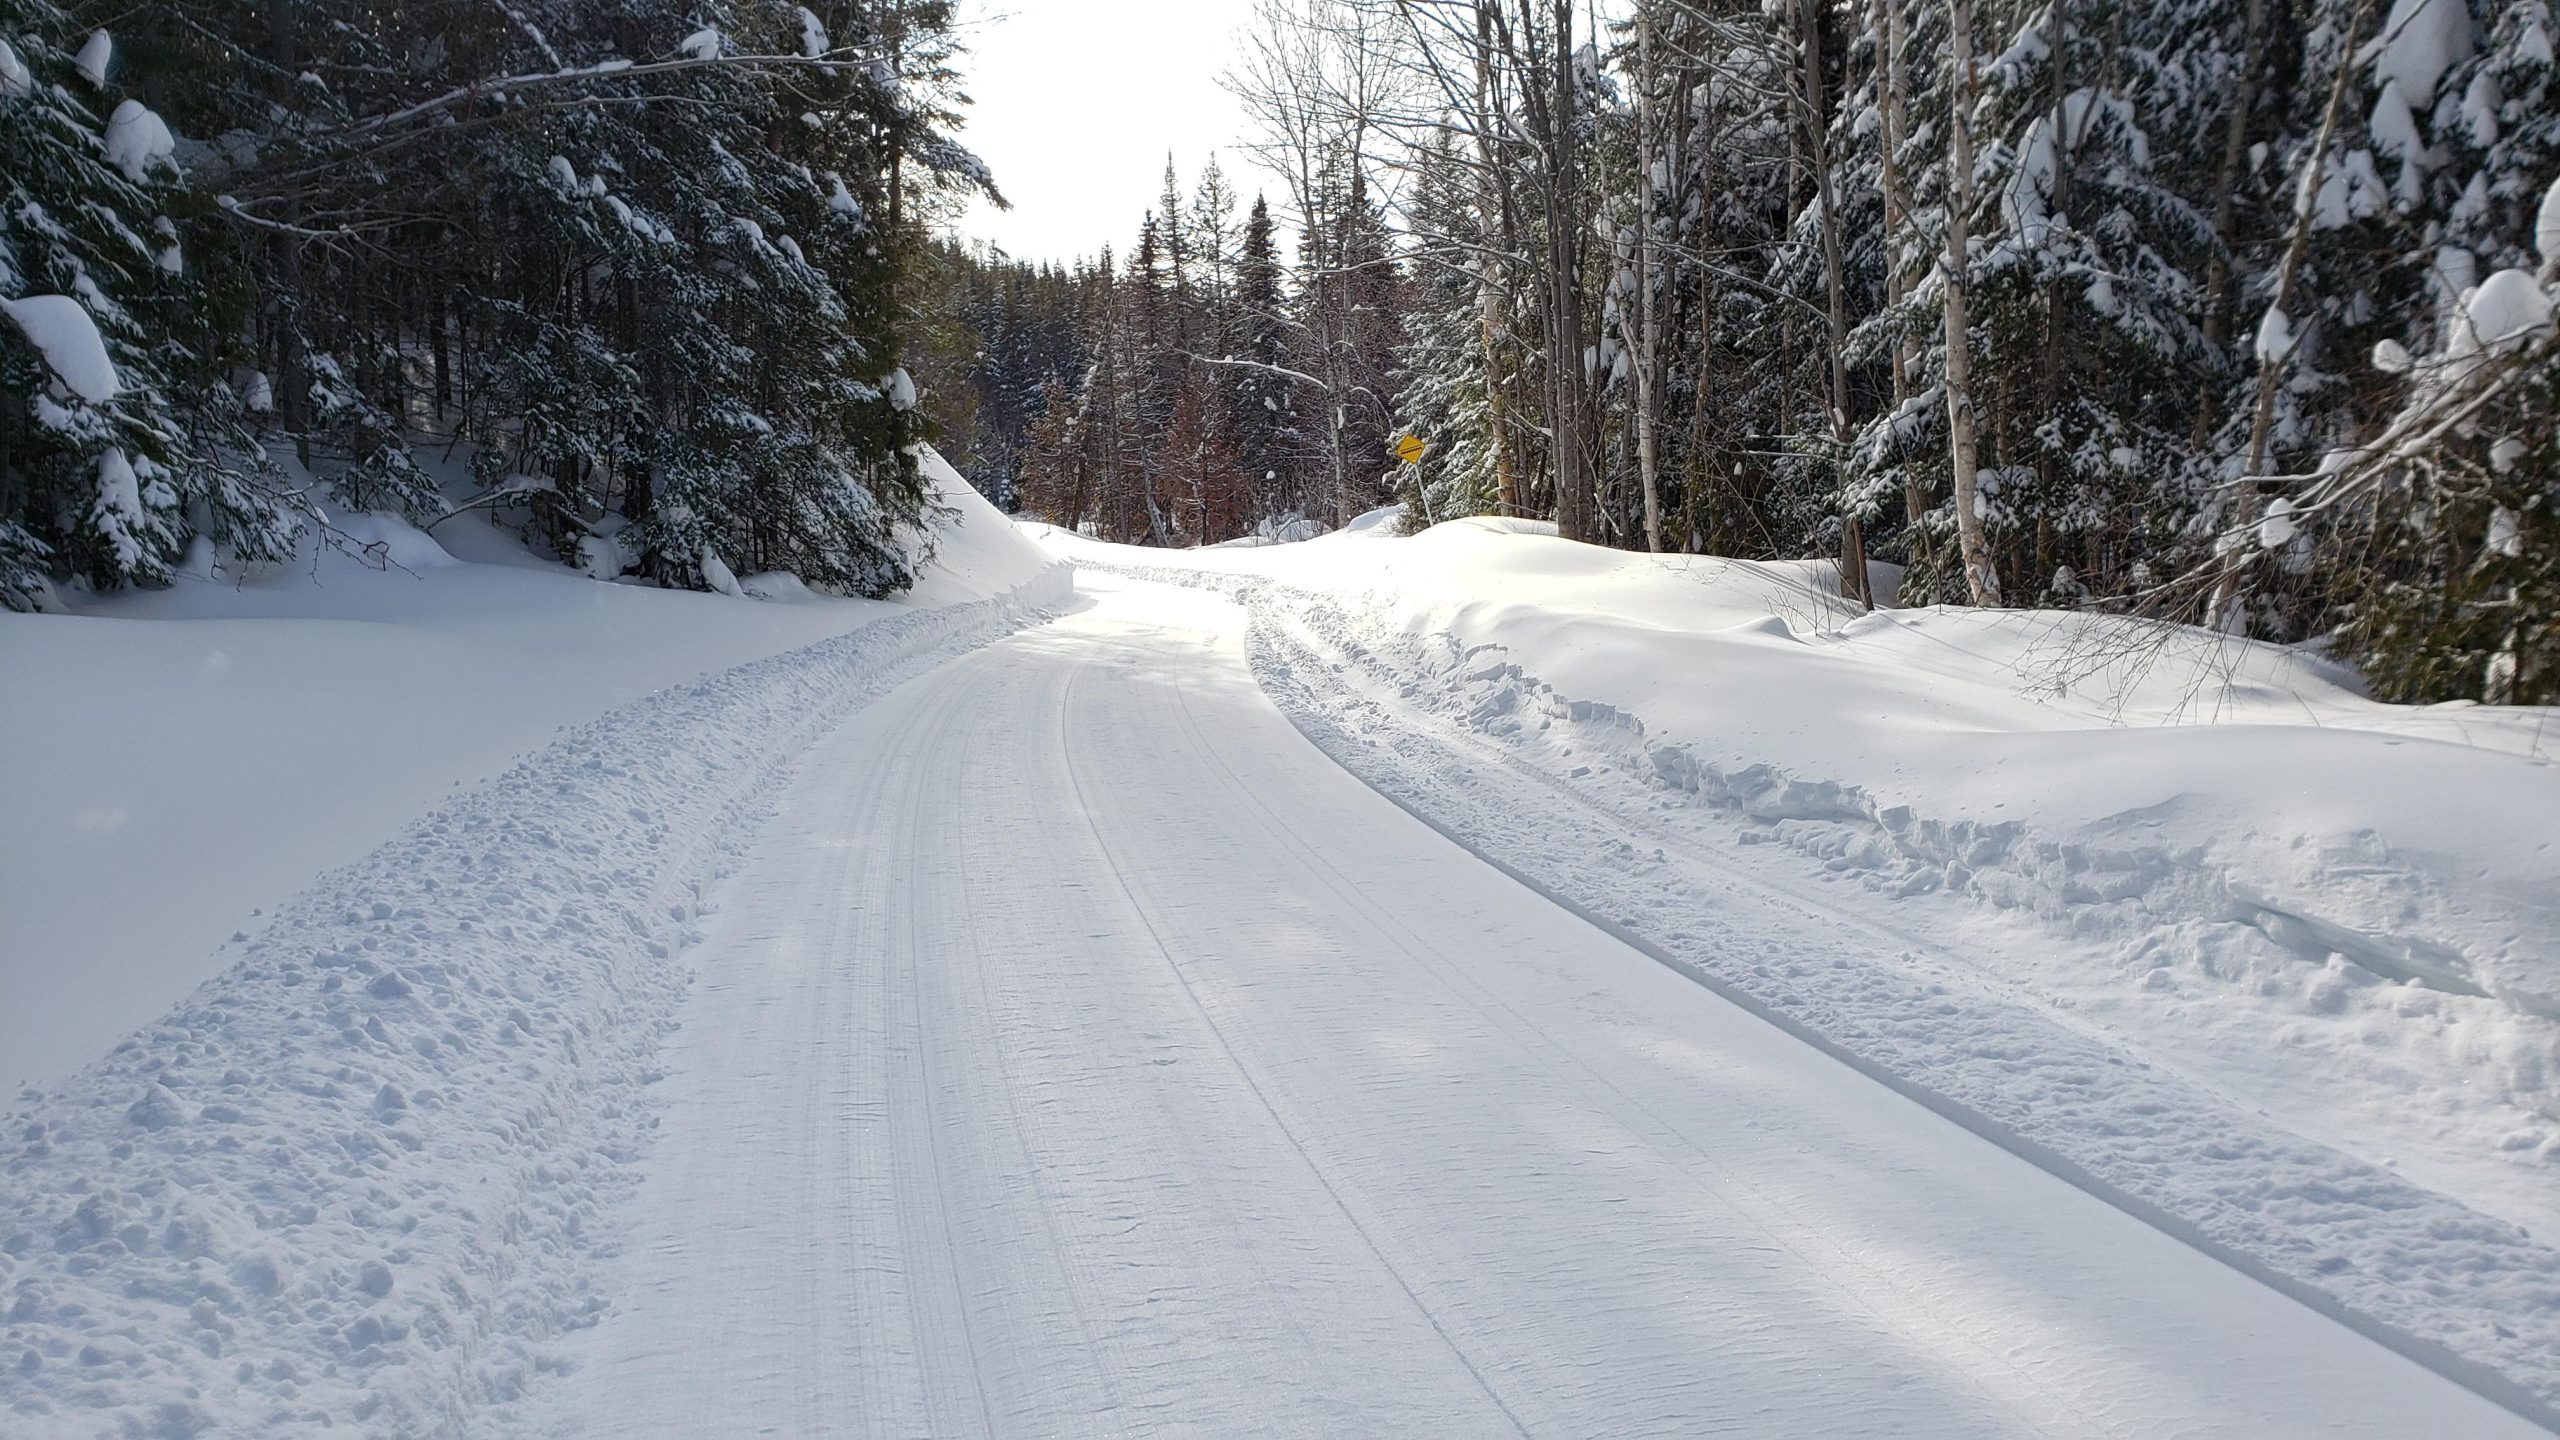
[[[899,605],[384,525],[0,628],[159,702],[0,715],[97,771],[0,807],[0,1430],[2560,1417],[2534,712],[955,502]]]

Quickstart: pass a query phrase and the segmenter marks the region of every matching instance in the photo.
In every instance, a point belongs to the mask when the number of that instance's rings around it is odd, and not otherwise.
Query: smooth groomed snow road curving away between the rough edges
[[[806,756],[492,1430],[2532,1432],[1423,828],[1239,610],[1085,589]]]

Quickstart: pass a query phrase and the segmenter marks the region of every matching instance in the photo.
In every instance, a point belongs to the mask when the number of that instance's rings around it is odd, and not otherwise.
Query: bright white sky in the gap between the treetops
[[[1211,154],[1239,213],[1277,187],[1234,149],[1244,110],[1219,90],[1249,0],[968,0],[960,59],[975,100],[963,141],[1014,210],[983,200],[960,231],[1019,259],[1126,254],[1165,187]]]

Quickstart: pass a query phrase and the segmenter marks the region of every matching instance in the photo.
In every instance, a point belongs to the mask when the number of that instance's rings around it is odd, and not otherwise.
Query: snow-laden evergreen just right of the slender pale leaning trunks
[[[2184,377],[2212,220],[2153,169],[2138,113],[2179,92],[2191,28],[2056,0],[1984,69],[1987,241],[1969,272],[1984,336],[2002,592],[2079,605],[2161,559],[2204,489]]]

